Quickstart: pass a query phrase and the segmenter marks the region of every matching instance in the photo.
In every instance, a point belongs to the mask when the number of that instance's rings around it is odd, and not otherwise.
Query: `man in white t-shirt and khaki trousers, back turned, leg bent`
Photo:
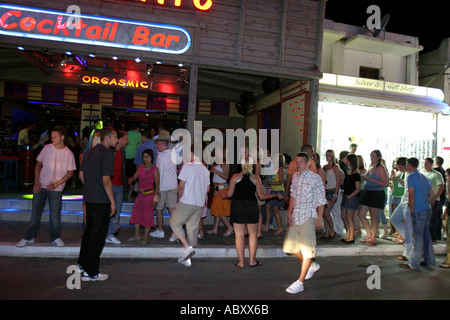
[[[190,266],[190,258],[195,254],[198,228],[209,191],[209,171],[191,152],[191,161],[183,165],[178,179],[176,209],[170,217],[170,227],[184,247],[178,262]],[[186,231],[183,226],[186,226]]]

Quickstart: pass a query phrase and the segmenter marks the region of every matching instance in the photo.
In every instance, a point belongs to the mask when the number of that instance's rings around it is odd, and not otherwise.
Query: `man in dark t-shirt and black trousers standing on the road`
[[[104,281],[107,274],[99,272],[100,254],[105,245],[110,217],[116,212],[111,176],[114,159],[109,148],[118,143],[113,128],[100,131],[100,143],[84,156],[80,179],[84,184],[83,199],[86,203],[86,228],[81,241],[78,266],[83,281]]]

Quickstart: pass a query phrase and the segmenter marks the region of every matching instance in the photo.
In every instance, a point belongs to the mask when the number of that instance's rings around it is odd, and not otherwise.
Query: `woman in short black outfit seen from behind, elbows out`
[[[252,174],[251,158],[242,163],[242,172],[234,174],[229,183],[228,192],[222,198],[231,198],[230,220],[235,232],[236,251],[239,261],[235,262],[238,268],[244,267],[245,234],[248,231],[249,239],[249,266],[256,267],[261,264],[256,260],[258,248],[258,221],[259,207],[255,192],[260,200],[273,198],[283,199],[281,194],[264,194],[261,179]]]

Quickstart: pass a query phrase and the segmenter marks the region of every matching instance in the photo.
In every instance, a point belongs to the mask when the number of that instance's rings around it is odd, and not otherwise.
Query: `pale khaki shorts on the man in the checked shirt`
[[[284,239],[283,251],[301,253],[304,258],[315,258],[316,219],[310,218],[303,224],[289,226]]]

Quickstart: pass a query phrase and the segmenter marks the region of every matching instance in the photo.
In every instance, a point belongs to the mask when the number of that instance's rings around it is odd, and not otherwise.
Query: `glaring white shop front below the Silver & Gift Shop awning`
[[[388,170],[400,156],[416,157],[423,163],[436,152],[437,115],[433,113],[375,108],[336,102],[319,103],[318,152],[332,149],[336,156],[356,143],[365,167],[372,150],[380,150]]]

